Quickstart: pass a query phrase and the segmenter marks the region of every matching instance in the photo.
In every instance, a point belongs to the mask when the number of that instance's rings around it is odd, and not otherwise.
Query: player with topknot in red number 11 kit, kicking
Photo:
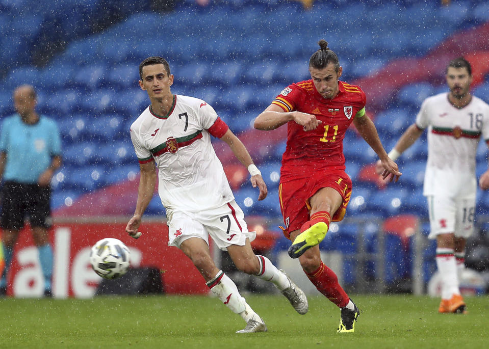
[[[286,228],[294,241],[289,248],[307,277],[341,308],[338,332],[354,332],[359,311],[322,261],[318,244],[331,220],[341,221],[351,194],[345,173],[343,138],[351,123],[381,159],[383,178],[401,173],[380,143],[374,123],[365,115],[365,93],[339,78],[342,67],[328,43],[319,41],[309,61],[312,79],[289,85],[254,121],[260,130],[287,124],[287,148],[282,156],[279,199]]]

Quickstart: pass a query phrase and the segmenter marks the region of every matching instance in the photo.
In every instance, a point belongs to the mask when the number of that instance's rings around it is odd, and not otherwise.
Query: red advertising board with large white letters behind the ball
[[[53,294],[57,298],[92,297],[102,280],[93,272],[89,255],[96,241],[105,237],[121,240],[131,251],[131,266],[153,266],[161,271],[167,293],[205,294],[209,288],[184,253],[168,247],[165,223],[143,223],[143,235],[134,239],[125,233],[125,222],[55,224],[50,231],[54,252]],[[8,275],[7,294],[39,297],[43,293],[42,273],[30,228],[17,240]]]

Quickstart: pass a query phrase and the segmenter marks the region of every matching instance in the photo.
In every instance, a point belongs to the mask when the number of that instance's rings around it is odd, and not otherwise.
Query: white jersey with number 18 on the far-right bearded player
[[[489,105],[472,96],[458,109],[441,93],[425,99],[416,125],[428,128],[423,194],[475,198],[475,158],[480,138],[489,140]]]

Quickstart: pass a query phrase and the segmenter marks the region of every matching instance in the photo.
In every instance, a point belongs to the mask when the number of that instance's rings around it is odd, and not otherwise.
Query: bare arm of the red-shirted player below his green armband
[[[362,117],[355,117],[353,119],[353,124],[358,130],[358,133],[360,133],[363,139],[380,158],[380,162],[383,167],[382,177],[384,179],[389,178],[390,181],[395,180],[397,182],[402,173],[399,172],[397,164],[387,155],[387,152],[385,152],[385,149],[380,142],[377,129],[375,128],[372,120],[370,120],[367,115],[364,115]]]

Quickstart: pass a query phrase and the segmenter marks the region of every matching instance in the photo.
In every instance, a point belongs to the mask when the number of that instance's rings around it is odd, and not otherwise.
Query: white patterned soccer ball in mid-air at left
[[[117,279],[129,269],[130,252],[121,240],[106,237],[97,241],[90,251],[90,264],[98,276]]]

